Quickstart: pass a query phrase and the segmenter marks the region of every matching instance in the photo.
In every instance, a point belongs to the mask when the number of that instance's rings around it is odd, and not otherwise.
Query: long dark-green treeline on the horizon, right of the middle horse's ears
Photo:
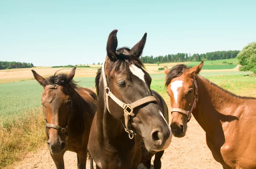
[[[235,58],[240,51],[216,51],[206,54],[168,54],[166,56],[143,56],[140,60],[143,63],[166,63],[166,62],[198,62],[202,60],[218,60]]]

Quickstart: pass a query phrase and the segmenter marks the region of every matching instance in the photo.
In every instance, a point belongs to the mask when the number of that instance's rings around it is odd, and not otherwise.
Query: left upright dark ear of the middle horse
[[[107,43],[107,54],[109,59],[116,60],[116,48],[117,48],[117,38],[116,33],[117,29],[113,30],[108,36],[108,43]]]

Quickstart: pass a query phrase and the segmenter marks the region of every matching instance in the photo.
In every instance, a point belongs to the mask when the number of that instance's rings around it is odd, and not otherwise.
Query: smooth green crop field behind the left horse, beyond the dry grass
[[[95,77],[75,78],[82,87],[94,86]],[[41,104],[44,88],[35,80],[0,84],[0,118],[20,114],[22,110],[36,108]],[[20,114],[22,115],[22,114]]]

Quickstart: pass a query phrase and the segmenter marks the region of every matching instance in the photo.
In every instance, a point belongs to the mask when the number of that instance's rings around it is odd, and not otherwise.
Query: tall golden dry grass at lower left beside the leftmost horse
[[[22,117],[0,119],[0,168],[18,161],[38,149],[45,141],[42,108],[26,110]]]

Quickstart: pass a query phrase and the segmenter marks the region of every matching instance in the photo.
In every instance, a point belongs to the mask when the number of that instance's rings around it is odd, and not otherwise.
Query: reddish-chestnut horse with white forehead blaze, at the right
[[[213,157],[224,169],[256,168],[256,98],[236,96],[199,76],[203,65],[166,70],[173,135],[185,135],[193,113],[206,132]]]

